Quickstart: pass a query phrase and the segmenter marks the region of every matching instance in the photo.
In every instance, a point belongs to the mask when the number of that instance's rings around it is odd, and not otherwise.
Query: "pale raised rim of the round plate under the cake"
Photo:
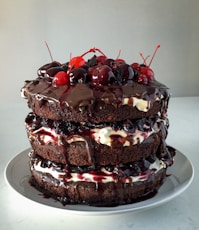
[[[179,184],[177,186],[178,187],[181,187],[180,189],[178,188],[174,194],[171,194],[170,196],[167,196],[165,197],[164,199],[162,199],[161,201],[159,202],[152,202],[149,204],[145,204],[144,202],[145,201],[141,201],[141,202],[137,202],[137,203],[133,203],[133,204],[126,204],[126,205],[120,205],[120,206],[116,206],[116,207],[94,207],[94,206],[88,206],[88,205],[70,205],[70,206],[74,206],[75,209],[67,209],[67,205],[66,206],[63,206],[63,208],[60,208],[60,207],[56,207],[56,206],[52,206],[52,205],[48,205],[46,203],[40,203],[39,201],[35,200],[35,199],[31,199],[29,197],[27,197],[26,195],[24,195],[23,193],[21,193],[20,191],[18,191],[16,189],[16,187],[10,183],[10,180],[8,178],[8,172],[9,170],[11,170],[11,167],[14,166],[16,164],[15,160],[17,160],[17,158],[19,157],[24,157],[24,155],[26,154],[28,156],[28,152],[30,152],[31,148],[27,148],[21,152],[19,152],[18,154],[15,154],[6,164],[6,167],[4,169],[4,179],[6,181],[6,184],[12,189],[14,190],[17,194],[21,195],[21,197],[29,200],[29,201],[32,201],[34,202],[35,204],[38,204],[38,205],[42,205],[42,206],[46,206],[46,207],[49,207],[49,208],[53,208],[53,209],[59,209],[59,210],[62,210],[64,212],[69,212],[70,214],[74,214],[74,215],[115,215],[115,214],[121,214],[121,213],[126,213],[126,212],[140,212],[140,211],[143,211],[143,210],[147,210],[147,209],[151,209],[151,208],[154,208],[154,207],[158,207],[160,205],[163,205],[169,201],[171,201],[172,199],[176,198],[177,196],[179,196],[181,193],[183,193],[192,183],[193,181],[193,178],[194,178],[194,167],[193,167],[193,164],[191,162],[190,159],[188,159],[188,157],[186,155],[184,155],[181,151],[177,150],[176,149],[176,156],[180,156],[181,158],[184,158],[184,162],[185,163],[188,163],[189,164],[189,167],[190,167],[190,170],[191,170],[191,174],[188,178],[186,178],[185,181],[183,181],[183,183]],[[175,156],[175,158],[176,158]],[[174,158],[174,161],[175,161],[175,158]],[[28,163],[28,162],[27,162]],[[28,164],[27,164],[28,165]],[[173,166],[172,166],[173,167]],[[24,167],[24,170],[26,168]],[[24,175],[24,176],[31,176],[31,174],[29,175]],[[168,178],[166,178],[168,180]],[[165,181],[166,182],[166,181]],[[161,186],[163,187],[165,185],[165,182],[164,184]],[[30,185],[31,186],[31,185]],[[36,191],[38,191],[36,188],[35,188]],[[39,196],[39,193],[41,194],[41,192],[38,191],[38,196]],[[156,195],[154,196],[156,197]],[[154,197],[146,200],[146,201],[152,201],[154,199]],[[53,198],[49,198],[49,199],[53,199]],[[143,206],[137,206],[137,207],[133,207],[133,205],[135,204],[143,204]],[[145,204],[145,205],[144,205]],[[80,206],[83,206],[83,207],[86,207],[86,208],[90,208],[90,209],[96,209],[96,210],[78,210],[78,207]],[[122,209],[118,209],[118,207],[122,207]],[[101,210],[102,209],[102,210]],[[107,209],[107,210],[104,210],[104,209]]]

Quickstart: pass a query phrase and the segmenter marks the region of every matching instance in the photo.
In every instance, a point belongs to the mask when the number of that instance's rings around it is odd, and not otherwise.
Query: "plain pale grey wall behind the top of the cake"
[[[20,102],[24,80],[91,47],[130,64],[161,45],[152,69],[173,96],[199,95],[198,0],[0,0],[0,103]]]

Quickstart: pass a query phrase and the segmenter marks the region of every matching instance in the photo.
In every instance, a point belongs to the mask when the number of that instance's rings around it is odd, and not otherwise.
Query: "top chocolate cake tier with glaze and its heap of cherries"
[[[100,51],[91,49],[88,52]],[[87,54],[86,52],[85,54]],[[100,51],[100,53],[102,53]],[[150,66],[94,55],[39,68],[22,96],[38,116],[74,122],[114,122],[160,113],[166,116],[169,89],[156,81]]]

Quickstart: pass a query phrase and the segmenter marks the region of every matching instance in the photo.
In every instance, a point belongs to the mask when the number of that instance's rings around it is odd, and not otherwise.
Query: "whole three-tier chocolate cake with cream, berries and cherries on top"
[[[93,48],[64,64],[52,60],[25,82],[30,171],[39,190],[63,204],[94,206],[158,191],[175,149],[165,142],[170,91],[154,77],[154,55],[148,65],[142,55],[142,64],[129,65]]]

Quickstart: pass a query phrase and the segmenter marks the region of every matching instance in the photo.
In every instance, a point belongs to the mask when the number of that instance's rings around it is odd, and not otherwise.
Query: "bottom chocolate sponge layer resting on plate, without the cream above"
[[[86,181],[69,182],[60,186],[59,181],[41,172],[33,171],[31,183],[44,194],[66,204],[91,206],[117,206],[131,204],[154,196],[166,177],[166,169],[151,174],[145,181],[134,183]]]

